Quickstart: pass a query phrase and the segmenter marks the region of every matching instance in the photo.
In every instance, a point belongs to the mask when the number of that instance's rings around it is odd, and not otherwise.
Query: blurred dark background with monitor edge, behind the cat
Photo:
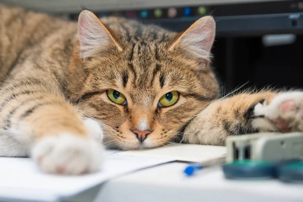
[[[2,1],[4,2],[4,1]],[[83,7],[98,17],[123,16],[184,31],[205,15],[217,21],[213,67],[223,92],[264,86],[302,88],[303,1],[270,0],[8,0],[77,20]]]

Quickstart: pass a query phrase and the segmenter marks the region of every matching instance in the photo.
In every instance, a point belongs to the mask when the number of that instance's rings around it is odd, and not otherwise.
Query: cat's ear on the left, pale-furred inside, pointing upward
[[[83,10],[79,15],[78,34],[81,58],[100,56],[102,52],[109,51],[111,48],[122,51],[122,47],[109,30],[88,10]]]

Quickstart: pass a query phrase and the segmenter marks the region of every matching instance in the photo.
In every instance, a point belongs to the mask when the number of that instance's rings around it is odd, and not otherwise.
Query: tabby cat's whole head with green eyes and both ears
[[[174,139],[219,89],[210,69],[212,17],[183,33],[84,10],[70,66],[72,100],[102,123],[105,144],[149,148]]]

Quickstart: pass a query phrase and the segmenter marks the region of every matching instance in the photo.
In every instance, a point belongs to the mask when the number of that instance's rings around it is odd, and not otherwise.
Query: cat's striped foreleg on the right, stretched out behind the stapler
[[[224,145],[227,136],[262,131],[303,131],[303,92],[243,93],[216,100],[187,125],[184,140]]]

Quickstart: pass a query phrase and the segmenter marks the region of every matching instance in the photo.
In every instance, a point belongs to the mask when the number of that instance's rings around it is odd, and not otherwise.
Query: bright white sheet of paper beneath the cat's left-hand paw
[[[113,177],[169,162],[118,154],[107,151],[103,171],[83,176],[47,175],[31,159],[0,158],[0,199],[59,201]]]

